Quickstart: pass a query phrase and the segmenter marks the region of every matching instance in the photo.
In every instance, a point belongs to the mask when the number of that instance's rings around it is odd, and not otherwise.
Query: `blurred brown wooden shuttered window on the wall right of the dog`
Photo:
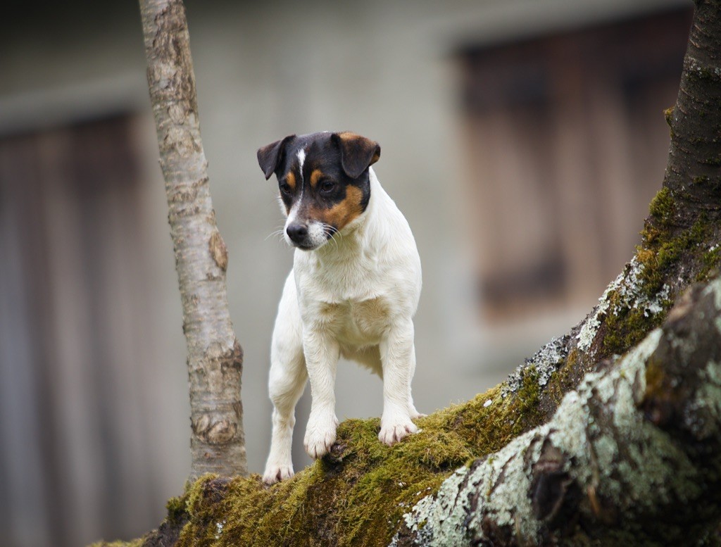
[[[459,53],[487,315],[593,305],[632,257],[690,21],[675,10]]]

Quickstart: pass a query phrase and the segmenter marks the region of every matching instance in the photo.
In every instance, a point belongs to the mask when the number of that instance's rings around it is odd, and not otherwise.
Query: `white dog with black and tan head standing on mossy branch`
[[[265,179],[274,173],[278,179],[283,237],[295,247],[270,350],[267,484],[293,476],[295,407],[308,379],[306,453],[317,459],[331,450],[341,355],[383,380],[382,443],[417,432],[412,420],[424,415],[411,395],[420,257],[410,226],[371,167],[380,156],[378,143],[355,133],[288,135],[257,151]]]

